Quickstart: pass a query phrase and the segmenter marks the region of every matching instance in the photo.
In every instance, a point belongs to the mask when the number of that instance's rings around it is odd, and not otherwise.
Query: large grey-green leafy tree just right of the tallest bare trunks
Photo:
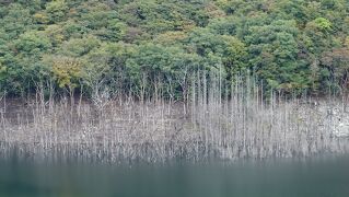
[[[245,38],[249,44],[249,63],[268,89],[291,92],[309,86],[309,70],[298,60],[298,34],[294,21],[251,27]]]

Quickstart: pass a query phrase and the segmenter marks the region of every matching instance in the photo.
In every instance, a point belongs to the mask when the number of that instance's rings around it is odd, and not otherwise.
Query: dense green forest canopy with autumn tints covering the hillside
[[[347,94],[348,0],[0,1],[0,92],[159,94],[193,73]]]

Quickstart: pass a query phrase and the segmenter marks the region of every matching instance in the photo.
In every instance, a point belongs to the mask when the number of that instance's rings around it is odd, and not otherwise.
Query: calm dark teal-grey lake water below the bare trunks
[[[162,164],[0,161],[0,196],[348,197],[348,157]]]

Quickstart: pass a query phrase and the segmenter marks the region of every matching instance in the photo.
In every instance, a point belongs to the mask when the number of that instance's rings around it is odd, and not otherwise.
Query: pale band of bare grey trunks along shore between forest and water
[[[187,111],[165,101],[107,101],[100,111],[89,103],[38,102],[15,118],[1,116],[0,141],[19,149],[25,143],[22,149],[33,158],[81,157],[112,163],[120,159],[263,160],[349,150],[347,127],[338,121],[348,116],[338,108],[340,103],[321,102],[314,107],[296,100],[268,105],[256,100],[248,105],[241,100],[217,101],[188,103]]]

